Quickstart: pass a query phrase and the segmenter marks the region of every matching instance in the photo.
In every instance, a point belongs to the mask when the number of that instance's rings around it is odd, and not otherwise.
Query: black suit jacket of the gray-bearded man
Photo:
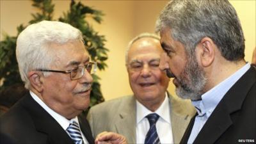
[[[251,67],[228,90],[205,122],[194,143],[256,142],[256,70]],[[187,143],[195,116],[180,143]]]

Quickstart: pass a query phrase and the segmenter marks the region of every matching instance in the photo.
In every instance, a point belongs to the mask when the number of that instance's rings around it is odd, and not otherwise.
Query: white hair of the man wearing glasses
[[[63,22],[44,20],[24,29],[17,38],[16,57],[25,87],[30,87],[29,71],[52,65],[54,50],[50,47],[51,44],[65,44],[76,40],[83,42],[81,31]]]

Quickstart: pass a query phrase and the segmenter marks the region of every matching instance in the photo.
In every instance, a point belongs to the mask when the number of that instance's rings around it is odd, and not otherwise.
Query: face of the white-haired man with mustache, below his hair
[[[51,70],[74,70],[89,63],[89,54],[80,41],[50,46],[54,49]],[[43,77],[42,81],[42,100],[60,115],[69,119],[88,108],[93,79],[86,70],[83,77],[77,80],[71,80],[70,74],[51,72],[49,76]]]

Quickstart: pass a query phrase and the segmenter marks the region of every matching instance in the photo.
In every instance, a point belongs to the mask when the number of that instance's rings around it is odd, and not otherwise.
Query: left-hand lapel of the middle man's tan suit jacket
[[[125,134],[128,143],[136,143],[136,100],[134,97],[118,109],[118,113],[115,122],[116,131],[119,134]]]

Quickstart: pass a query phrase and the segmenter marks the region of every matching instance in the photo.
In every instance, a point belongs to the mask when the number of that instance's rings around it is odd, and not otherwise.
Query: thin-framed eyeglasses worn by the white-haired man
[[[97,63],[95,61],[89,62],[88,65],[79,66],[73,70],[47,70],[47,69],[37,69],[40,72],[60,72],[63,74],[70,74],[71,80],[80,79],[84,75],[84,68],[86,68],[87,72],[90,74],[94,74],[97,70]]]

